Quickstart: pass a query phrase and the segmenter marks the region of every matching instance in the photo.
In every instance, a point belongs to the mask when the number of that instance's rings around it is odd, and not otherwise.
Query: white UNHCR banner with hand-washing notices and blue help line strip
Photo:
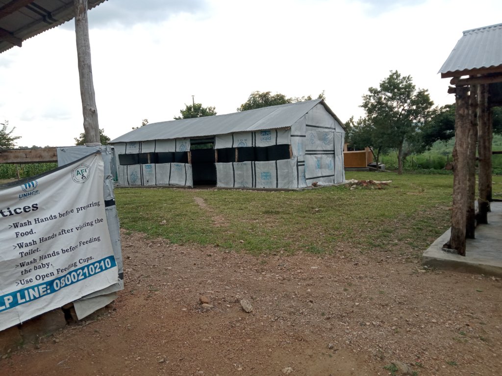
[[[0,189],[0,330],[117,282],[103,159]]]

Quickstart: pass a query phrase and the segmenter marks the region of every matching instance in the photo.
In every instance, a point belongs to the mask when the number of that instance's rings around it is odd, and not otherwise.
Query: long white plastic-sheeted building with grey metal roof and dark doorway
[[[110,144],[122,186],[296,189],[344,181],[344,135],[316,99],[152,123]]]

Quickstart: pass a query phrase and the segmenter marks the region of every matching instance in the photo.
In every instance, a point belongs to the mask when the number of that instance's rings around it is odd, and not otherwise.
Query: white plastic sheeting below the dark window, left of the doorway
[[[188,163],[149,163],[118,166],[122,186],[193,186],[192,165]]]

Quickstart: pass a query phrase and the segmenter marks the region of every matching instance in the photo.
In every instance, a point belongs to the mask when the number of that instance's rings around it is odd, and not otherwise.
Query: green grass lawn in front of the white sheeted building
[[[393,180],[383,190],[347,186],[301,192],[117,189],[123,229],[178,244],[270,254],[421,252],[448,227],[452,175],[349,172]],[[494,176],[494,197],[502,176]],[[203,200],[199,205],[195,199]]]

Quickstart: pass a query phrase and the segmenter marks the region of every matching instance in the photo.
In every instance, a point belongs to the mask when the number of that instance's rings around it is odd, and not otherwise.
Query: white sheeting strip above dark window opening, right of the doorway
[[[227,147],[263,147],[280,144],[290,144],[290,128],[259,130],[256,132],[239,132],[220,134],[214,137],[214,148]]]

